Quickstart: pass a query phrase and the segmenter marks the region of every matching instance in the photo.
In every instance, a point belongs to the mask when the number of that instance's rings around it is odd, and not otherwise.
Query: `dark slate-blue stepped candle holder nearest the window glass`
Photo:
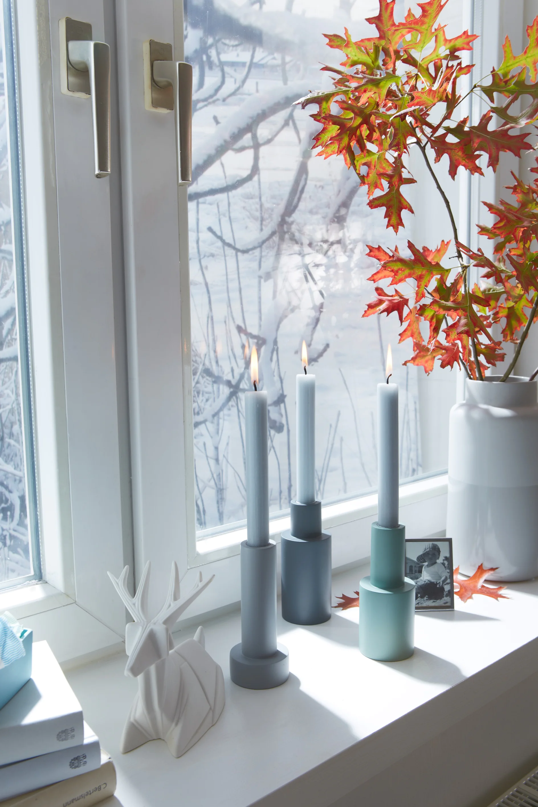
[[[291,502],[282,533],[282,617],[294,625],[331,619],[331,534],[321,529],[321,502]]]

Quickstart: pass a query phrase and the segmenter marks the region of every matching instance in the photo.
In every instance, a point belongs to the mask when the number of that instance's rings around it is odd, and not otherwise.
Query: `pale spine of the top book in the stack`
[[[0,730],[0,765],[50,754],[84,742],[82,710]]]

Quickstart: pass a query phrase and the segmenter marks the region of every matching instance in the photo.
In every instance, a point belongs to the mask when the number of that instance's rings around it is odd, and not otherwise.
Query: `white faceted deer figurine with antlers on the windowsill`
[[[163,739],[173,756],[179,757],[219,720],[224,708],[223,671],[206,652],[202,627],[194,639],[174,647],[172,628],[180,614],[211,583],[202,583],[202,573],[191,591],[180,597],[179,571],[172,564],[169,592],[161,611],[148,617],[150,564],[136,595],[127,591],[129,567],[116,579],[115,589],[135,620],[125,629],[129,659],[125,675],[138,678],[138,692],[123,729],[120,751],[126,754],[148,740]]]

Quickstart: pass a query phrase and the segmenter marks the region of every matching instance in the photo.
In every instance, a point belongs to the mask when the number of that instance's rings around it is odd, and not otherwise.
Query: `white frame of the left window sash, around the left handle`
[[[16,0],[15,10],[46,582],[6,592],[0,608],[76,602],[118,638],[125,612],[106,571],[132,553],[118,120],[117,170],[97,180],[90,102],[61,94],[59,59],[60,18],[92,23],[94,39],[111,43],[114,95],[114,6]]]

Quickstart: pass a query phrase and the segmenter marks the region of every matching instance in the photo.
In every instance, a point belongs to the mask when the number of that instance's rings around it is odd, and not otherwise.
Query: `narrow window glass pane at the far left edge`
[[[10,12],[5,0],[0,42],[0,587],[40,576]]]

